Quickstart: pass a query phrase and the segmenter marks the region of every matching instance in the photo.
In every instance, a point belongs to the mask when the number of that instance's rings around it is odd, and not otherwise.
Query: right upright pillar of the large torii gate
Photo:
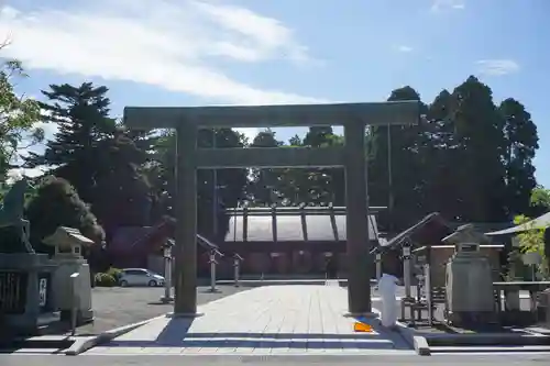
[[[365,124],[344,124],[345,232],[348,249],[348,310],[351,315],[371,313],[373,260],[369,237]]]

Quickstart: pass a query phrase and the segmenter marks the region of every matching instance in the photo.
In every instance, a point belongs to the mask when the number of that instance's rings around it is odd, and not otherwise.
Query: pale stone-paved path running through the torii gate
[[[332,285],[332,284],[331,284]],[[161,318],[85,355],[415,355],[373,320],[354,333],[339,286],[266,286],[199,307],[196,319]]]

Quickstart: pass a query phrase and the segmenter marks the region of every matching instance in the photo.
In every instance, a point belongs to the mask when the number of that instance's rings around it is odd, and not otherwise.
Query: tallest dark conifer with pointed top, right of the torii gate
[[[491,88],[471,76],[452,93],[458,217],[471,222],[506,221],[506,170],[502,156],[506,147],[504,121],[493,103]]]

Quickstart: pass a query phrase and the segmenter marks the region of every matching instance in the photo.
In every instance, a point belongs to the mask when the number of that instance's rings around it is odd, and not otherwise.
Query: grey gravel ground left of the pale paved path
[[[246,287],[218,286],[220,292],[208,292],[209,287],[197,289],[197,303],[207,303],[243,290]],[[98,334],[113,328],[158,317],[174,310],[172,303],[160,302],[164,288],[111,287],[92,289],[94,323],[82,325],[77,334]]]

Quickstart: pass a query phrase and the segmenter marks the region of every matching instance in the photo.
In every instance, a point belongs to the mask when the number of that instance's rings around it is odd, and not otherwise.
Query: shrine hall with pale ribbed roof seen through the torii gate
[[[369,217],[374,242],[380,240],[376,213],[381,209],[372,208]],[[220,251],[244,258],[243,275],[323,275],[328,257],[333,258],[340,275],[345,274],[345,208],[238,208],[226,212],[229,228]],[[220,275],[230,276],[231,265],[223,260]]]

